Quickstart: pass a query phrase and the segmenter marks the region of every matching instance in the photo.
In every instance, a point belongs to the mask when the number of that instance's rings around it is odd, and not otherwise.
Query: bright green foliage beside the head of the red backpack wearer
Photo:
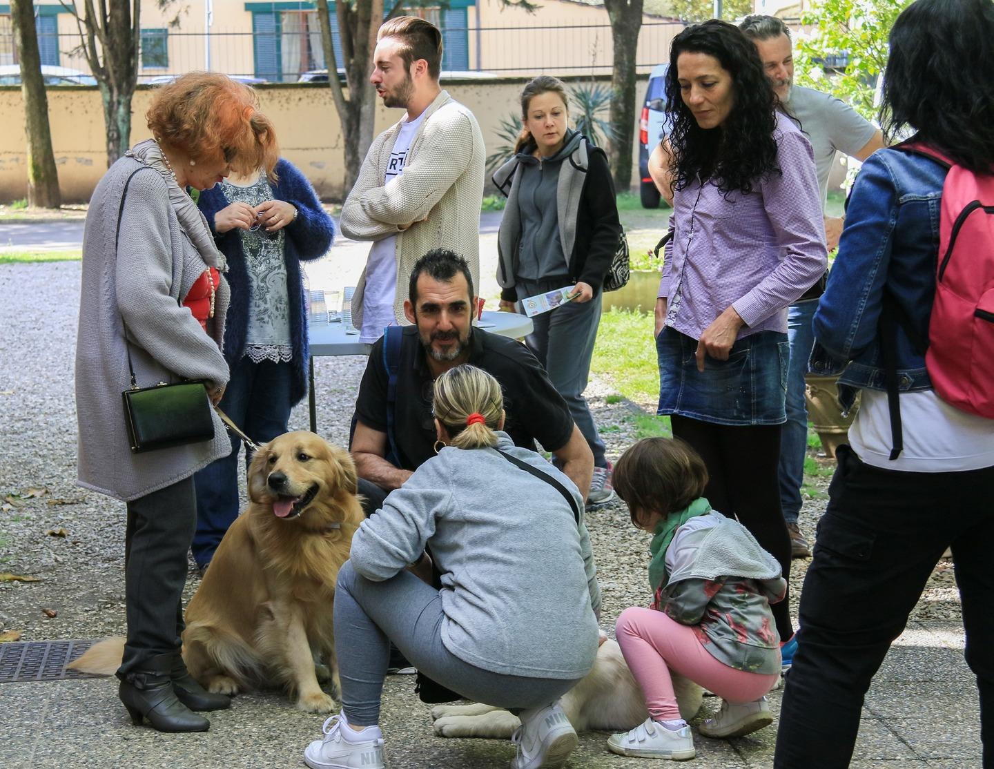
[[[802,16],[813,31],[794,43],[794,81],[824,90],[876,117],[877,79],[888,58],[888,37],[911,0],[821,0]],[[846,68],[826,76],[821,62],[848,56]]]

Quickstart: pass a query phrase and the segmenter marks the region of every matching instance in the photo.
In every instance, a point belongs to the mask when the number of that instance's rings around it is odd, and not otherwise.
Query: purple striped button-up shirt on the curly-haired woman
[[[739,339],[786,332],[787,306],[828,263],[811,143],[789,118],[776,120],[782,175],[728,200],[710,182],[674,196],[657,295],[667,299],[666,325],[694,339],[729,306],[745,321]]]

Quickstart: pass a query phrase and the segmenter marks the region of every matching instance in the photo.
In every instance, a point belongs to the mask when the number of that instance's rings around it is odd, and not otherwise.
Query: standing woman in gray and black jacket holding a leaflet
[[[569,301],[536,315],[528,349],[570,404],[593,453],[587,504],[609,501],[610,463],[583,390],[600,325],[600,287],[621,237],[607,156],[569,127],[566,88],[543,75],[521,93],[525,127],[515,155],[494,174],[507,196],[497,236],[503,310],[527,296],[572,286]]]

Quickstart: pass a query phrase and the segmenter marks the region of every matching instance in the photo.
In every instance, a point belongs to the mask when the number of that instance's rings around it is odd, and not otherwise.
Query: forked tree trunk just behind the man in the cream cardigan
[[[339,0],[335,3],[335,12],[338,16],[338,29],[342,41],[348,98],[345,97],[338,79],[328,2],[317,0],[324,61],[328,66],[328,84],[342,127],[345,151],[345,189],[342,194],[344,198],[359,178],[359,169],[370,144],[373,143],[376,90],[369,81],[369,74],[373,66],[376,33],[380,29],[379,20],[383,19],[384,15],[384,0],[359,0],[355,5],[347,0]]]

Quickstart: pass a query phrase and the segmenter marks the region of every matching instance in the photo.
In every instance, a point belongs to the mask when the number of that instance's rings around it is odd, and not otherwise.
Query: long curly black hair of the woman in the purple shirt
[[[733,104],[717,128],[701,128],[683,100],[677,80],[681,54],[707,54],[732,76]],[[711,179],[726,196],[744,195],[770,174],[776,163],[776,94],[755,45],[734,24],[712,19],[688,27],[673,39],[666,73],[666,113],[672,124],[670,173],[673,189]]]

